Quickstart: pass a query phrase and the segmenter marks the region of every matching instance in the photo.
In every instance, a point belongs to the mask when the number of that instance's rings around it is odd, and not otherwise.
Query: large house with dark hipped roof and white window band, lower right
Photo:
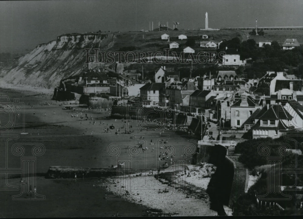
[[[278,138],[284,133],[294,130],[291,116],[282,105],[264,106],[255,116],[255,125],[251,127],[253,138]]]

